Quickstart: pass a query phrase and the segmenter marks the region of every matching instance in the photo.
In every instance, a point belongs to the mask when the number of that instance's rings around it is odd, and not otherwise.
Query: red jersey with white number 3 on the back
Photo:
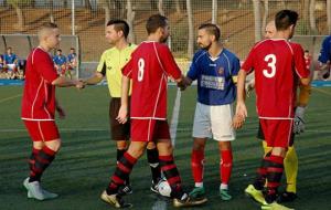
[[[260,118],[292,118],[298,77],[309,77],[300,44],[271,39],[255,44],[243,70],[255,71]]]

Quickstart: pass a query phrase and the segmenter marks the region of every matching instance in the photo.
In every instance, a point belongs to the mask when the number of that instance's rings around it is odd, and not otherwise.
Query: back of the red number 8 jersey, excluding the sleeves
[[[161,63],[160,48],[158,42],[142,42],[132,53],[132,102],[139,102],[139,111],[132,109],[132,116],[160,117],[166,115],[164,107],[158,107],[159,103],[167,101],[167,74]],[[157,107],[156,107],[157,106]],[[157,116],[153,109],[161,108]]]

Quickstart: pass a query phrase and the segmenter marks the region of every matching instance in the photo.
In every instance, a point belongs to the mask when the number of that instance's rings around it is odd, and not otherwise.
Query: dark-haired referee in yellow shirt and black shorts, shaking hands
[[[100,59],[95,74],[85,81],[88,85],[94,85],[106,76],[110,94],[109,103],[109,123],[111,129],[111,139],[117,146],[117,161],[127,151],[128,140],[130,138],[130,122],[125,124],[118,123],[116,119],[120,107],[121,95],[121,67],[130,60],[131,53],[137,45],[127,41],[129,34],[129,25],[124,20],[110,20],[106,27],[106,39],[113,48],[106,50]],[[128,93],[131,95],[131,91]],[[161,179],[161,169],[159,166],[159,155],[154,143],[149,143],[147,147],[147,158],[152,172],[151,190],[158,192],[157,186]],[[126,179],[126,185],[122,188],[126,193],[131,193],[129,177]]]

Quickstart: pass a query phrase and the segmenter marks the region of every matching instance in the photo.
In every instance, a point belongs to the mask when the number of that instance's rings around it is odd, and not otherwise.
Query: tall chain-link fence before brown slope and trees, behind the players
[[[221,27],[225,46],[242,60],[246,57],[256,40],[254,4],[248,0],[0,0],[0,33],[34,34],[43,22],[54,21],[60,25],[62,34],[74,33],[79,36],[83,62],[97,62],[102,52],[109,48],[104,38],[106,20],[127,19],[128,14],[134,14],[131,41],[140,43],[146,39],[145,24],[148,17],[161,12],[170,20],[171,49],[174,55],[188,59],[188,2],[192,8],[193,42],[197,27],[211,22],[214,14],[215,22]],[[271,20],[278,10],[293,9],[300,13],[297,34],[328,33],[325,0],[314,1],[311,10],[314,14],[313,21],[310,21],[311,15],[307,15],[307,7],[310,6],[303,4],[309,1],[258,2],[261,27],[264,20]],[[260,31],[263,32],[261,29]]]

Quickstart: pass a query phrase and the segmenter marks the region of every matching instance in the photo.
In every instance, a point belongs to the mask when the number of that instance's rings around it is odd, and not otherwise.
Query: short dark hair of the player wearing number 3
[[[275,17],[277,31],[287,30],[290,25],[296,25],[298,21],[298,12],[293,10],[280,10]]]

